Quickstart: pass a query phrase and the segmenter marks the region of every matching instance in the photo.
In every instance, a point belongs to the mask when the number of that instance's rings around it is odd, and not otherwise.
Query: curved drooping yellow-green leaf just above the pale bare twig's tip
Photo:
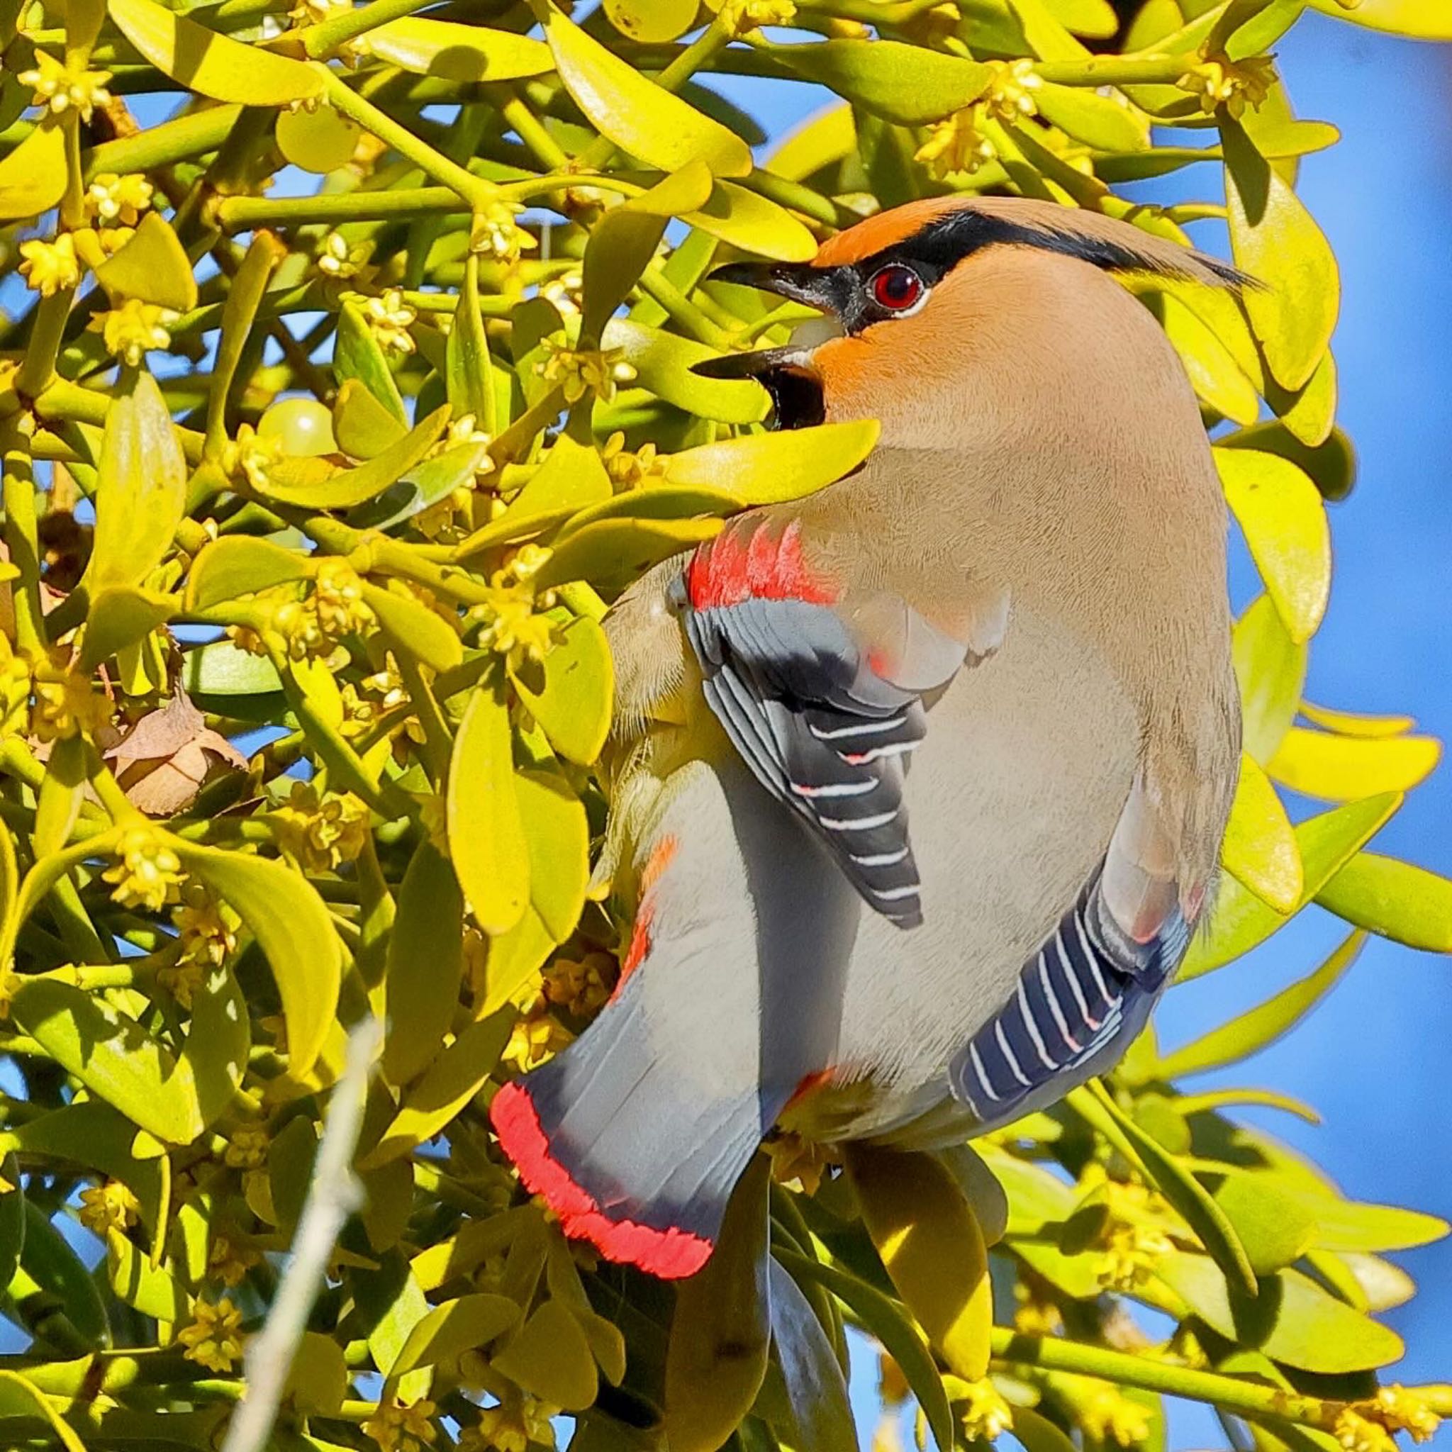
[[[168,838],[182,867],[231,903],[272,967],[287,1024],[287,1074],[301,1080],[338,1006],[343,951],[322,899],[282,862]]]

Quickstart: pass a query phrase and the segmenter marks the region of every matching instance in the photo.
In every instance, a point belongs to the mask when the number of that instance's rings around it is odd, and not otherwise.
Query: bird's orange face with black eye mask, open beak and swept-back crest
[[[1009,266],[995,269],[1009,250]],[[931,391],[960,369],[984,331],[1032,327],[1034,312],[1047,318],[1048,295],[1061,296],[1054,279],[1082,285],[1083,264],[1217,287],[1246,282],[1227,263],[1096,212],[1022,197],[926,197],[838,232],[812,261],[717,267],[713,279],[817,308],[823,321],[784,347],[710,359],[696,372],[761,382],[778,428],[880,417],[884,396]]]

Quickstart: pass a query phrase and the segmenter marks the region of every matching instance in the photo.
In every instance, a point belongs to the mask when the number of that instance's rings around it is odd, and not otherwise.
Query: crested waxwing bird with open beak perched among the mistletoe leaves
[[[1234,267],[1018,197],[929,197],[713,277],[822,314],[777,427],[877,420],[605,617],[619,984],[491,1104],[565,1233],[664,1279],[764,1138],[964,1143],[1109,1069],[1207,915],[1240,762],[1227,515],[1125,280]]]

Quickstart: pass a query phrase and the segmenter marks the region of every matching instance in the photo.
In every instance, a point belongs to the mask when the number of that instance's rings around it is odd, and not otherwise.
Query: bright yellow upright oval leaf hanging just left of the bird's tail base
[[[510,714],[497,685],[481,685],[465,707],[446,800],[449,854],[469,908],[485,932],[508,932],[529,903],[530,867]]]

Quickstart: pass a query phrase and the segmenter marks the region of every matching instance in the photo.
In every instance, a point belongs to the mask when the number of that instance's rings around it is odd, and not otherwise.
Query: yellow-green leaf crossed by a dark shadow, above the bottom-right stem
[[[1221,1336],[1259,1347],[1298,1371],[1368,1371],[1403,1353],[1395,1331],[1337,1301],[1298,1270],[1268,1278],[1253,1300],[1233,1297],[1214,1262],[1202,1256],[1166,1256],[1156,1273]]]

